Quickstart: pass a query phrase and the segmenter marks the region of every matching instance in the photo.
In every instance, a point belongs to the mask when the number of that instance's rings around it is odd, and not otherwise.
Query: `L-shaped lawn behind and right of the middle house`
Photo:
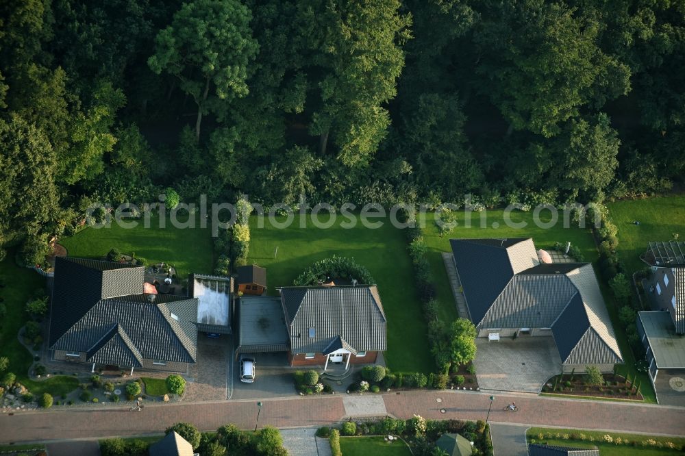
[[[395,229],[387,219],[380,229],[367,229],[361,223],[354,229],[343,229],[339,223],[319,229],[311,225],[311,220],[306,228],[299,228],[299,218],[295,220],[287,229],[277,229],[268,220],[263,228],[258,228],[257,218],[250,220],[248,261],[266,268],[269,293],[277,294],[278,286],[291,286],[295,277],[320,259],[333,255],[353,257],[369,269],[378,285],[388,318],[388,367],[425,373],[435,370],[404,232]],[[276,247],[278,253],[274,258]]]

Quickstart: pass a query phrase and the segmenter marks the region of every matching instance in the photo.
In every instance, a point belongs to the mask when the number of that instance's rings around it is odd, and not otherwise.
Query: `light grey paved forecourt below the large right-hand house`
[[[499,342],[475,341],[476,375],[481,390],[538,393],[545,381],[561,372],[561,359],[551,337],[519,337]]]

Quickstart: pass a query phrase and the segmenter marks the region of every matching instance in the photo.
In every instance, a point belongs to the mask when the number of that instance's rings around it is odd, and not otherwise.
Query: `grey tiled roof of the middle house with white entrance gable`
[[[323,353],[336,345],[348,351],[387,349],[386,316],[375,285],[280,291],[292,353]]]

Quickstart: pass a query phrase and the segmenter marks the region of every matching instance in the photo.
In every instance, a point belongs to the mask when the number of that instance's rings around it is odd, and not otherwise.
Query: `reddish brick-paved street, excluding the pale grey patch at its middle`
[[[378,397],[378,396],[377,396]],[[385,394],[388,414],[410,418],[485,419],[488,394],[454,391],[416,391]],[[440,398],[441,402],[437,402]],[[516,401],[520,410],[503,411]],[[332,425],[345,416],[343,397],[319,396],[263,399],[260,426],[317,427]],[[440,413],[440,409],[446,413]],[[178,421],[194,423],[203,431],[228,422],[244,429],[253,428],[257,418],[255,401],[212,403],[149,404],[140,412],[129,406],[118,409],[72,409],[64,411],[20,411],[0,416],[0,440],[5,443],[98,438],[115,435],[160,433]],[[497,395],[490,421],[526,425],[605,429],[642,433],[685,435],[685,408],[630,403],[566,400],[537,396]]]

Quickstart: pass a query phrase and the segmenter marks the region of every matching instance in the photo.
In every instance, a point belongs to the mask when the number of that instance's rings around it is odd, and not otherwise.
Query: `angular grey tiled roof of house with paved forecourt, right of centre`
[[[591,264],[540,264],[531,239],[450,242],[478,329],[551,328],[564,364],[623,362]]]

